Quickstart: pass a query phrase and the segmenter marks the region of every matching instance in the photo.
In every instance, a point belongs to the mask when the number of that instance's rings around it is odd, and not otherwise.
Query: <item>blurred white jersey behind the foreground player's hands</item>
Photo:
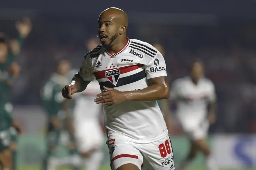
[[[102,111],[102,107],[94,102],[95,96],[101,93],[99,83],[97,81],[90,82],[86,89],[80,93],[74,94],[75,108],[74,121],[90,121],[90,119],[98,119]]]

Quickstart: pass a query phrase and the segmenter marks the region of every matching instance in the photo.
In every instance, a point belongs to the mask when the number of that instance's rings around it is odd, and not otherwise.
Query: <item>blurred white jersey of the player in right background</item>
[[[207,105],[216,101],[215,87],[206,78],[195,85],[190,77],[172,83],[170,98],[177,103],[177,116],[187,124],[198,124],[207,116]]]

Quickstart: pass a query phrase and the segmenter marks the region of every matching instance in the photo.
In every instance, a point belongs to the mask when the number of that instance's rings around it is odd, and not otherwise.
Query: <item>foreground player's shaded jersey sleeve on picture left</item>
[[[84,80],[84,81],[94,81],[96,80],[94,74],[92,74],[92,66],[91,66],[91,60],[90,60],[90,57],[88,57],[87,55],[85,55],[85,58],[83,60],[83,63],[80,67],[80,70],[79,70],[79,75],[81,76],[81,78]]]

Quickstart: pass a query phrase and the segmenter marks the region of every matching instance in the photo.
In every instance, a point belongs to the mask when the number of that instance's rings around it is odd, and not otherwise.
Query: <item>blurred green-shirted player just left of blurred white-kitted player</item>
[[[43,169],[53,169],[60,166],[59,158],[55,156],[55,148],[59,145],[73,150],[74,144],[68,131],[69,102],[65,100],[60,90],[67,84],[67,75],[70,71],[70,62],[61,60],[58,63],[57,72],[45,83],[41,90],[42,105],[48,114],[47,154],[44,159]],[[75,168],[74,168],[75,169]]]

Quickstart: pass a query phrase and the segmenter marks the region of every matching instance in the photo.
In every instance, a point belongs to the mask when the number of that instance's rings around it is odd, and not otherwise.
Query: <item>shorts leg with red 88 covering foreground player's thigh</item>
[[[169,135],[153,142],[142,144],[139,148],[144,156],[144,167],[148,170],[174,169],[174,157]]]

